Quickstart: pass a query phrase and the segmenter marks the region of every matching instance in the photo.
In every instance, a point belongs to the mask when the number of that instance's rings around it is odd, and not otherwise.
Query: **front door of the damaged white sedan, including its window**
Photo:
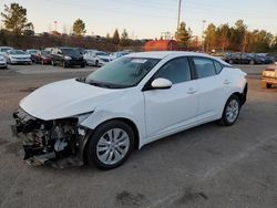
[[[147,137],[181,129],[197,115],[197,87],[187,58],[177,58],[164,64],[151,81],[163,77],[173,85],[168,90],[144,91]],[[150,83],[151,83],[150,81]]]

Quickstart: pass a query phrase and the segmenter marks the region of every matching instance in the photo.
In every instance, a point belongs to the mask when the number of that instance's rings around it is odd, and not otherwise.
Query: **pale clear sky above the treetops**
[[[11,2],[27,8],[37,33],[54,30],[54,21],[59,32],[69,33],[78,18],[85,22],[89,35],[112,35],[115,29],[120,33],[126,29],[132,39],[154,39],[162,32],[174,34],[177,27],[178,0],[0,0],[0,11]],[[181,21],[194,35],[201,35],[208,23],[233,25],[238,19],[249,30],[277,35],[276,9],[277,0],[182,0]]]

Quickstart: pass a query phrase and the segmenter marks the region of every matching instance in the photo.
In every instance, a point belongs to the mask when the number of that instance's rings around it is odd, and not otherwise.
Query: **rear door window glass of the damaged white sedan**
[[[213,60],[207,58],[193,58],[193,61],[198,79],[208,77],[216,74]]]

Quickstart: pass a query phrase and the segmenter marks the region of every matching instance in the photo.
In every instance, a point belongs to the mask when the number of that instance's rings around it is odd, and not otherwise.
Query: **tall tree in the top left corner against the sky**
[[[27,9],[18,3],[11,3],[10,7],[4,4],[4,10],[1,12],[4,28],[17,35],[21,35],[23,30],[32,25],[27,19]],[[32,27],[33,29],[33,27]]]

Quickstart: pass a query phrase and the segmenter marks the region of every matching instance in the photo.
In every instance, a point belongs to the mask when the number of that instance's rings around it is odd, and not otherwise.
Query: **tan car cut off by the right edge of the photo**
[[[267,89],[277,85],[277,65],[270,65],[263,71],[261,83],[263,86],[266,86]]]

